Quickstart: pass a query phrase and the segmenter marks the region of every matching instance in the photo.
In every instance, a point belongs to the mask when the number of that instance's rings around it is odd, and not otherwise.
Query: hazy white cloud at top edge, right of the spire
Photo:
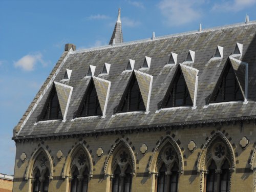
[[[159,3],[159,9],[165,17],[164,23],[168,26],[184,25],[198,19],[198,5],[203,1],[190,0],[163,0]]]

